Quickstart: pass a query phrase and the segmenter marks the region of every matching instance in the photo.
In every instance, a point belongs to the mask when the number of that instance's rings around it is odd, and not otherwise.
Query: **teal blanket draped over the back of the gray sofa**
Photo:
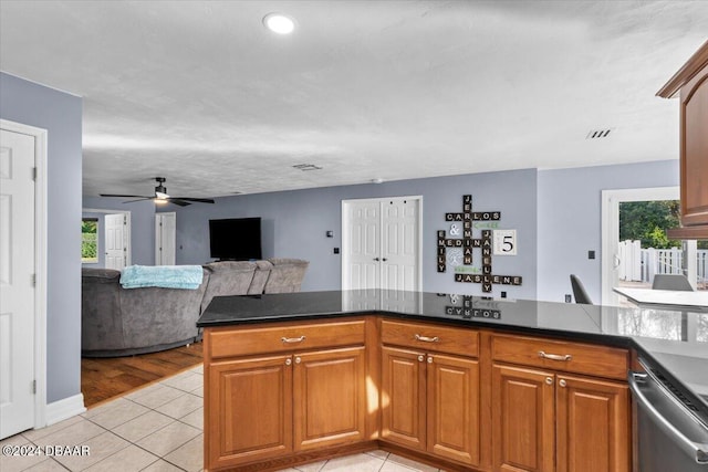
[[[121,271],[123,289],[159,286],[196,290],[201,285],[201,265],[128,265]]]

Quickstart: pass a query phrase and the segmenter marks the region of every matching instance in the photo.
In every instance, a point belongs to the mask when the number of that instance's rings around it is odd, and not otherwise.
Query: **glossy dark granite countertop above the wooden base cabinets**
[[[197,326],[371,313],[633,347],[708,415],[708,313],[367,290],[218,296]]]

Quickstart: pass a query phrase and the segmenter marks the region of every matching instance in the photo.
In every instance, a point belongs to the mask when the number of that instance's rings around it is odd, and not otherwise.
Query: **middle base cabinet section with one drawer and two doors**
[[[479,361],[472,358],[477,336],[465,328],[382,323],[384,343],[406,346],[382,347],[383,440],[479,464]]]

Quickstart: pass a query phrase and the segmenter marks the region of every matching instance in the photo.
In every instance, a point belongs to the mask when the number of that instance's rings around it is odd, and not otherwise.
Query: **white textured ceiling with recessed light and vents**
[[[708,1],[0,2],[0,70],[83,97],[87,196],[676,159],[706,39]]]

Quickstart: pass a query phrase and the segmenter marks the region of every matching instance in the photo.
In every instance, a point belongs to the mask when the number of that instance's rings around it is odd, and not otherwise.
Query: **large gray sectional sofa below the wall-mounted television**
[[[300,292],[309,262],[273,258],[205,264],[197,290],[123,289],[121,272],[82,269],[83,357],[119,357],[184,346],[215,296]]]

